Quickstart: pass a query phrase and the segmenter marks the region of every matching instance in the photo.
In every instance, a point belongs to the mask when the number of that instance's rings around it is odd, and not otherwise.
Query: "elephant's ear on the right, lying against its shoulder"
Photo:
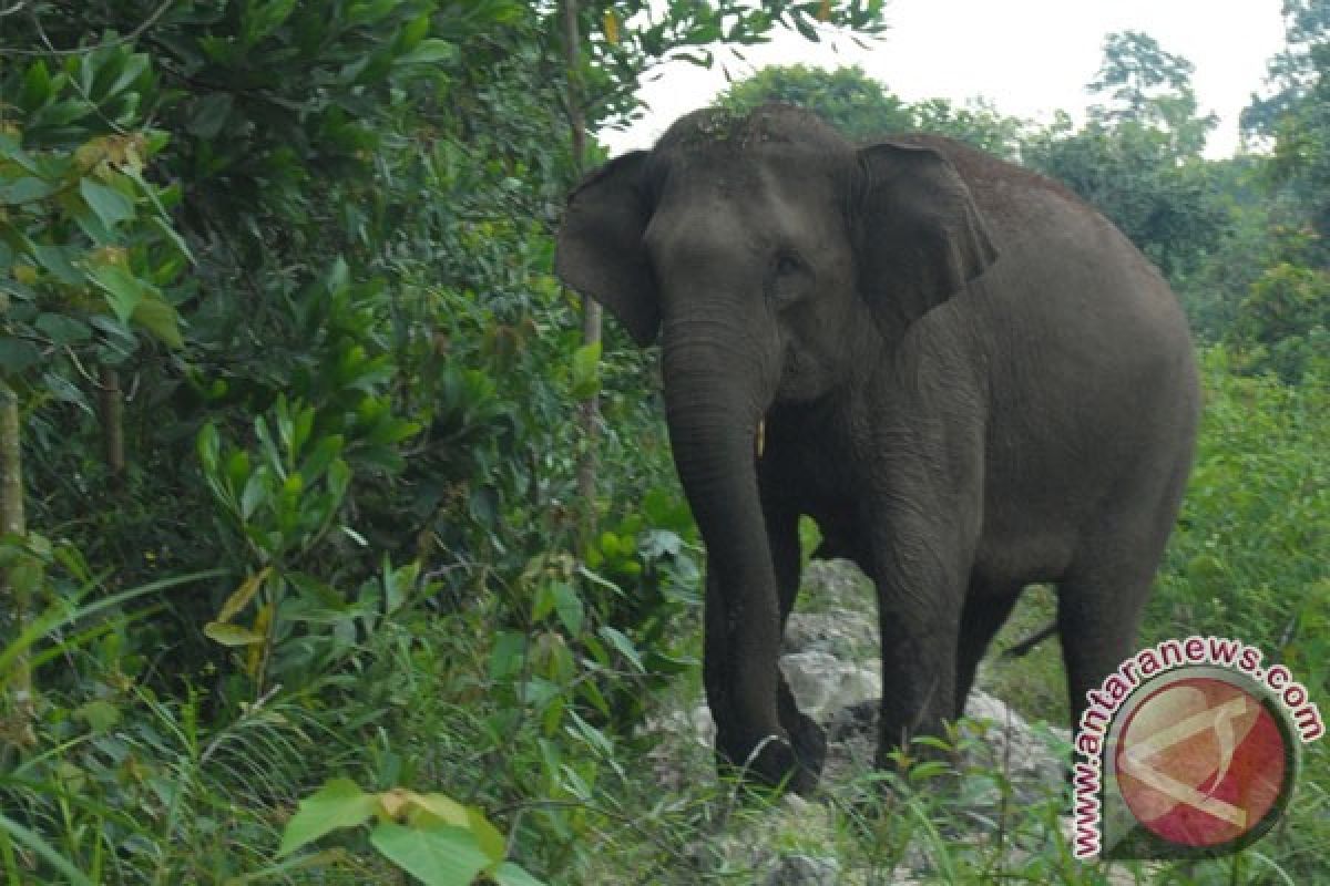
[[[970,189],[931,147],[859,150],[855,219],[859,291],[878,327],[898,337],[998,258]]]

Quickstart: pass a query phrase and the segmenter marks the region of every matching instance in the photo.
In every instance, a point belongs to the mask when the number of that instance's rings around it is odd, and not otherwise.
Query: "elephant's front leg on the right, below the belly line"
[[[956,533],[918,511],[886,518],[875,541],[874,578],[882,632],[879,768],[955,716],[956,643],[968,554]],[[916,754],[918,752],[912,752]]]

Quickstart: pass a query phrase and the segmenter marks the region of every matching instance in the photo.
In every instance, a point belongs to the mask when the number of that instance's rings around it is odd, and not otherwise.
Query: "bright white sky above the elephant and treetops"
[[[1281,0],[888,0],[883,37],[861,49],[846,36],[811,44],[781,33],[743,50],[717,53],[705,70],[674,62],[642,97],[646,118],[601,134],[613,153],[649,147],[680,114],[773,64],[861,65],[907,101],[982,96],[998,110],[1048,121],[1063,109],[1083,117],[1085,93],[1103,57],[1104,37],[1144,31],[1196,65],[1192,84],[1202,112],[1220,117],[1206,154],[1226,157],[1238,139],[1238,113],[1264,89],[1265,64],[1283,46]]]

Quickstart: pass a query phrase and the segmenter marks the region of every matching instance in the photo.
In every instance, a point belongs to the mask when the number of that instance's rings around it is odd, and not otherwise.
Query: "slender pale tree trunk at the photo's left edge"
[[[19,422],[19,396],[8,383],[0,380],[0,533],[15,538],[27,535],[23,502],[23,449]],[[0,573],[0,600],[8,603],[12,638],[23,634],[32,610],[32,563],[20,555],[13,566]],[[4,679],[13,713],[12,735],[19,744],[36,743],[32,699],[32,669],[28,654],[13,660],[13,671]]]

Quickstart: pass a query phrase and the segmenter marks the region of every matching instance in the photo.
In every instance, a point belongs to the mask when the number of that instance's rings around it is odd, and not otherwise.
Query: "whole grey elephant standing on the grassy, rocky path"
[[[1197,376],[1164,280],[1061,186],[944,138],[696,112],[577,189],[557,271],[662,343],[722,762],[798,790],[821,768],[777,668],[801,514],[878,588],[879,765],[959,716],[1028,583],[1059,586],[1073,721],[1133,651]]]

